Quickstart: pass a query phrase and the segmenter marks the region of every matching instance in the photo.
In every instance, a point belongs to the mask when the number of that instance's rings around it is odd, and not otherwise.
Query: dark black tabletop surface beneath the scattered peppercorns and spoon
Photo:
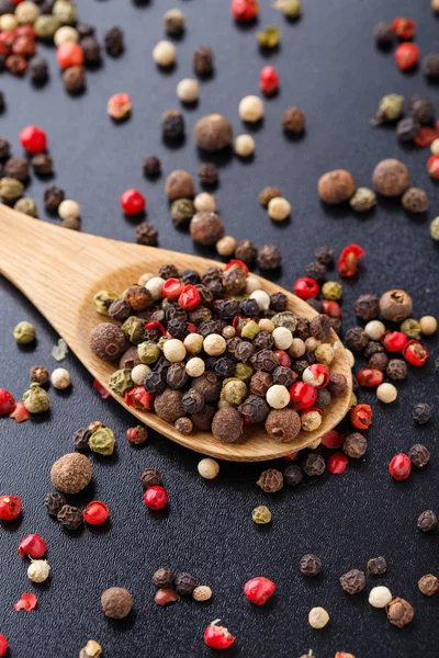
[[[164,73],[150,52],[162,38],[165,10],[175,4],[184,11],[188,30],[178,43],[178,65]],[[171,225],[164,178],[146,181],[142,159],[157,154],[165,175],[176,168],[195,174],[201,158],[192,139],[196,118],[222,112],[236,133],[246,132],[238,102],[258,92],[259,70],[270,61],[280,73],[281,91],[266,102],[263,125],[255,129],[254,160],[219,159],[217,206],[227,231],[237,239],[254,238],[258,245],[279,245],[284,264],[277,280],[286,287],[303,274],[317,247],[330,245],[339,252],[359,242],[367,257],[358,281],[345,282],[345,327],[356,321],[351,309],[357,296],[381,294],[394,286],[412,294],[416,317],[438,316],[438,243],[429,237],[438,193],[425,171],[428,149],[403,148],[392,128],[369,124],[385,93],[428,93],[437,99],[437,89],[427,84],[420,71],[401,73],[393,54],[379,52],[372,38],[379,21],[409,15],[417,22],[416,41],[423,53],[434,50],[439,24],[429,2],[305,0],[304,15],[294,24],[286,23],[268,2],[261,4],[259,25],[278,24],[282,31],[281,47],[270,56],[258,52],[255,26],[239,29],[233,23],[226,0],[146,4],[80,0],[81,21],[97,24],[100,37],[111,25],[123,27],[124,55],[119,59],[105,56],[102,68],[88,75],[87,93],[71,99],[61,87],[54,49],[41,47],[50,60],[50,81],[32,89],[27,79],[2,75],[8,107],[0,118],[0,134],[20,154],[18,135],[24,125],[35,123],[47,131],[56,162],[54,182],[80,203],[85,231],[133,241],[135,223],[121,214],[119,196],[136,186],[147,197],[148,220],[160,231],[160,247],[199,253],[190,236]],[[160,115],[179,106],[177,82],[192,75],[192,52],[201,44],[215,52],[215,75],[201,83],[198,106],[184,111],[185,144],[171,150],[161,143]],[[112,123],[105,113],[108,98],[119,91],[128,92],[134,104],[131,120],[122,125]],[[280,128],[281,114],[292,104],[303,107],[307,116],[305,137],[294,141]],[[380,201],[367,217],[319,203],[316,183],[322,173],[344,167],[358,184],[369,185],[376,162],[389,157],[401,158],[413,182],[427,190],[428,217],[410,217],[393,202]],[[279,185],[291,201],[291,222],[273,224],[260,207],[257,196],[267,184]],[[27,193],[37,201],[42,218],[54,222],[44,216],[44,185],[34,178]],[[67,294],[69,282],[59,281],[59,285],[66,286]],[[0,281],[0,385],[20,397],[32,365],[58,365],[50,356],[57,337],[4,280]],[[12,328],[22,319],[37,329],[37,342],[30,349],[19,349],[12,337]],[[373,394],[361,393],[361,400],[372,401],[374,409],[364,460],[351,463],[342,476],[327,474],[274,496],[262,494],[255,484],[262,464],[224,463],[219,476],[206,481],[196,472],[198,454],[153,431],[144,447],[133,447],[125,438],[133,418],[114,400],[101,400],[91,376],[69,354],[59,365],[71,372],[72,387],[64,394],[49,390],[49,415],[24,424],[1,422],[0,490],[19,495],[24,507],[20,522],[0,529],[0,632],[9,638],[11,657],[70,658],[78,656],[89,638],[100,642],[111,658],[207,656],[203,629],[217,617],[237,637],[229,656],[299,658],[309,648],[317,658],[333,658],[337,650],[356,658],[438,656],[439,594],[429,599],[417,588],[424,574],[439,575],[438,534],[423,534],[416,527],[423,510],[439,508],[439,379],[432,366],[438,349],[435,339],[428,344],[429,365],[421,372],[410,370],[394,405],[384,408]],[[436,406],[425,427],[410,419],[417,401]],[[49,468],[71,451],[74,431],[95,419],[114,429],[117,450],[112,458],[93,457],[93,484],[79,497],[79,504],[93,498],[104,500],[111,526],[67,533],[44,509],[45,494],[52,489]],[[394,481],[387,474],[390,458],[416,442],[431,450],[430,465],[407,481]],[[267,467],[284,465],[277,462]],[[149,513],[142,502],[138,476],[146,466],[162,473],[170,496],[164,514]],[[267,527],[251,521],[251,510],[262,503],[273,514]],[[27,564],[16,553],[22,536],[32,532],[48,544],[52,577],[44,586],[27,580]],[[324,563],[323,575],[314,580],[304,579],[297,568],[297,560],[308,552],[319,554]],[[339,576],[351,568],[364,569],[367,560],[378,555],[386,557],[387,574],[368,577],[361,594],[346,594]],[[162,565],[190,571],[209,583],[213,600],[156,606],[150,579]],[[244,583],[258,575],[271,578],[278,588],[264,608],[251,605],[243,594]],[[408,627],[392,627],[384,611],[369,605],[368,592],[375,585],[386,585],[394,595],[413,603],[416,616]],[[135,599],[134,612],[123,623],[110,622],[100,611],[100,594],[111,586],[126,587]],[[13,610],[12,603],[24,591],[38,595],[36,612]],[[308,626],[307,614],[315,605],[330,614],[324,631]]]

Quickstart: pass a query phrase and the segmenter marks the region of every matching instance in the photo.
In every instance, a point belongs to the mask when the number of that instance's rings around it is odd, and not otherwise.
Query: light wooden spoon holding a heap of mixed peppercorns
[[[94,310],[92,298],[101,290],[120,293],[136,283],[144,272],[157,273],[165,263],[173,263],[180,271],[191,268],[199,272],[219,264],[189,253],[128,245],[63,229],[0,205],[0,273],[36,306],[119,404],[145,424],[196,452],[221,460],[257,462],[306,447],[340,422],[349,407],[351,371],[347,354],[334,332],[330,340],[333,343],[337,341],[338,345],[331,371],[346,375],[348,389],[324,411],[318,430],[302,431],[290,443],[279,443],[268,438],[263,426],[246,428],[245,436],[238,443],[221,443],[209,432],[183,435],[154,412],[127,407],[123,398],[108,386],[110,374],[116,365],[101,361],[89,348],[90,331],[102,321],[102,316]],[[282,291],[270,281],[260,281],[269,294]],[[289,309],[295,315],[307,319],[316,315],[305,302],[288,291],[282,292],[288,295]]]

